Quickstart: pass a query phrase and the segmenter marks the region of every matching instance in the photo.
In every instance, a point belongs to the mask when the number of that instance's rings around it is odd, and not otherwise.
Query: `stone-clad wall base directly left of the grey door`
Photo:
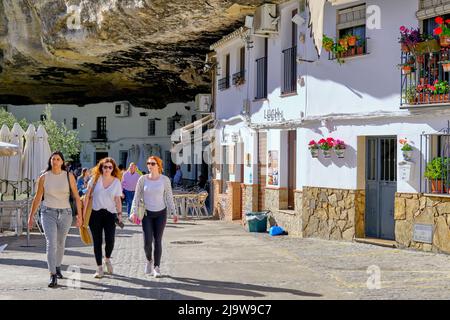
[[[303,188],[303,237],[351,241],[364,237],[365,191]]]

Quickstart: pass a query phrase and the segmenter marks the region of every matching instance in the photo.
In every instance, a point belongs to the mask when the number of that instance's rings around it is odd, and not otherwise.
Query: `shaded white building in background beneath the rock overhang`
[[[9,105],[8,111],[18,119],[34,122],[41,119],[45,107]],[[109,156],[122,165],[135,161],[140,170],[147,171],[146,157],[154,154],[161,157],[168,175],[174,174],[170,154],[172,132],[200,117],[194,102],[171,103],[160,110],[137,108],[126,101],[81,107],[52,105],[52,118],[78,131],[83,167],[93,167],[98,160]],[[139,146],[139,156],[130,154],[135,146]],[[183,179],[197,180],[201,173],[199,166],[192,163],[181,167]]]

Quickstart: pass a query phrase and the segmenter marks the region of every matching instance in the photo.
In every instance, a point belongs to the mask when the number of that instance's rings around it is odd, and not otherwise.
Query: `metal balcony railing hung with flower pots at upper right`
[[[450,102],[447,86],[450,80],[450,62],[449,65],[445,63],[449,60],[449,48],[422,54],[402,52],[400,104],[423,105]]]

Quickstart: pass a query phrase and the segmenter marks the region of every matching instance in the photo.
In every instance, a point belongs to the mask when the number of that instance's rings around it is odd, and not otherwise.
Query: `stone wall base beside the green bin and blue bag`
[[[302,236],[302,193],[295,192],[295,209],[288,206],[287,189],[266,189],[266,208],[270,210],[269,226],[279,225],[291,236]]]

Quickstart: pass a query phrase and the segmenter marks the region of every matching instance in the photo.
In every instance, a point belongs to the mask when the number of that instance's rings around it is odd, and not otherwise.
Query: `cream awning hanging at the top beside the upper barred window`
[[[356,2],[359,0],[307,0],[309,7],[309,27],[311,28],[311,36],[313,37],[314,46],[317,54],[320,56],[322,52],[323,39],[323,13],[326,2],[330,2],[333,6]]]

